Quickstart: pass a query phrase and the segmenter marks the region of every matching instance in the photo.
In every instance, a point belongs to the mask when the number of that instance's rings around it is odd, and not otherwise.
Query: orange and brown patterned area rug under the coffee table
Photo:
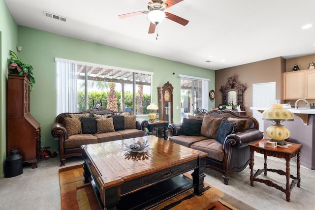
[[[185,175],[190,177],[189,173]],[[82,165],[59,170],[62,210],[100,209],[91,184],[84,183],[83,180]],[[191,189],[154,210],[254,210],[254,208],[205,183],[203,195],[196,196]]]

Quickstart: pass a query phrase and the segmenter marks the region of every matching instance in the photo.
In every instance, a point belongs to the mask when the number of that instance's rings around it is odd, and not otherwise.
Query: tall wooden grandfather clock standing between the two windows
[[[173,123],[173,86],[168,81],[158,87],[158,114],[161,120]]]

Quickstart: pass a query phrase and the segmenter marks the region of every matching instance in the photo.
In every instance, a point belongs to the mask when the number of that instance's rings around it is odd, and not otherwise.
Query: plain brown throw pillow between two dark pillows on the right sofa
[[[201,135],[207,137],[208,139],[216,139],[221,121],[224,119],[226,120],[225,117],[214,118],[209,115],[205,115],[202,120]]]

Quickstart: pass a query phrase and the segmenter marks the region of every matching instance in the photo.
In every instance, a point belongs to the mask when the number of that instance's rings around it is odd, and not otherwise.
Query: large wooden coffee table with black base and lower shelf
[[[124,151],[124,143],[148,140],[151,150]],[[193,188],[202,195],[207,153],[145,136],[83,145],[85,182],[105,210],[149,209]],[[194,170],[192,180],[183,173]]]

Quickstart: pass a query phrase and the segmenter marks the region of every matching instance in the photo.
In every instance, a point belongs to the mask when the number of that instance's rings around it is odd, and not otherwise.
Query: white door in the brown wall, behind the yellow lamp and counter
[[[252,107],[270,107],[276,101],[276,82],[252,84]],[[259,123],[259,130],[264,132],[261,113],[252,110],[252,117]]]

